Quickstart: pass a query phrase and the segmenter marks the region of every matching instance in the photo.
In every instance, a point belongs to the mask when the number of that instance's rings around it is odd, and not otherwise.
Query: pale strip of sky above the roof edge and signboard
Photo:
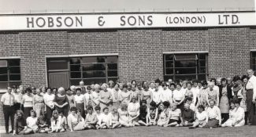
[[[2,11],[252,9],[254,0],[0,0]]]

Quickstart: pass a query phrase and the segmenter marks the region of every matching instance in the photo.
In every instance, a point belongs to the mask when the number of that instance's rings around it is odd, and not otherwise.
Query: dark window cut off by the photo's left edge
[[[0,59],[0,90],[20,83],[20,59]]]

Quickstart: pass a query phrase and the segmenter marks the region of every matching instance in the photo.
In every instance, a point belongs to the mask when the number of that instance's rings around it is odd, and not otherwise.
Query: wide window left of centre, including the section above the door
[[[80,81],[90,85],[92,82],[99,84],[118,79],[117,56],[83,56],[47,60],[48,78],[50,78],[49,73],[68,70],[70,85],[79,85]]]

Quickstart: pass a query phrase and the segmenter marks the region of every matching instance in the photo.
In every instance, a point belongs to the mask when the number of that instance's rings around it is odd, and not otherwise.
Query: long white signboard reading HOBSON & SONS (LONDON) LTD
[[[236,26],[256,26],[255,13],[134,13],[0,16],[0,31]]]

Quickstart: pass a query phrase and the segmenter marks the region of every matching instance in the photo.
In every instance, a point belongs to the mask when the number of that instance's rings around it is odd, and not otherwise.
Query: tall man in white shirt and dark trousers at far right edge
[[[253,70],[247,70],[247,75],[249,80],[247,81],[245,88],[247,89],[247,111],[250,125],[254,117],[253,108],[255,106],[256,99],[256,77],[254,76]]]

